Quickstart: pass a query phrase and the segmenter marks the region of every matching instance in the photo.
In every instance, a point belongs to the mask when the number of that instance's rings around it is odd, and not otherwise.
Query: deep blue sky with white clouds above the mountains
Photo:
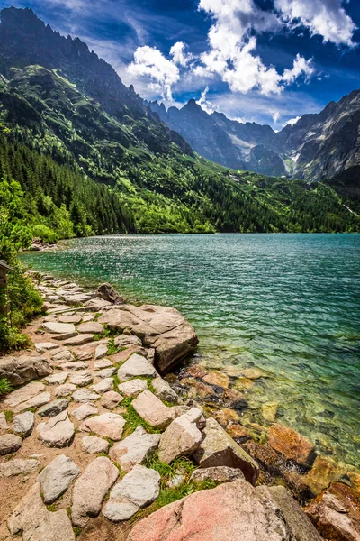
[[[139,94],[276,130],[360,88],[358,0],[14,0]]]

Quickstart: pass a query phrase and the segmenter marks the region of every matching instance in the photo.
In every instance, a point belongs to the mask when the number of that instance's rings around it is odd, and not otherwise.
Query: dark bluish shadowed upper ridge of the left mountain
[[[125,87],[112,66],[90,51],[83,41],[54,32],[31,9],[5,8],[1,11],[0,71],[11,79],[14,68],[31,65],[56,70],[75,84],[78,91],[99,103],[106,113],[130,126],[134,136],[150,151],[166,153],[176,143],[182,151],[192,153],[177,133],[158,122],[133,87]]]

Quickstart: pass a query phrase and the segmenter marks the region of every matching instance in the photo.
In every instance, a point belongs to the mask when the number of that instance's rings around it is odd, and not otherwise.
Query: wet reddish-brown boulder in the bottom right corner
[[[360,494],[347,485],[332,483],[304,510],[325,539],[359,541]]]

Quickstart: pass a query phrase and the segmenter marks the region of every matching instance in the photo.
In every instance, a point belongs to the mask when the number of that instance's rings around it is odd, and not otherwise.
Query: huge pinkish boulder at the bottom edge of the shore
[[[234,481],[199,491],[141,520],[127,541],[321,541],[284,487]]]

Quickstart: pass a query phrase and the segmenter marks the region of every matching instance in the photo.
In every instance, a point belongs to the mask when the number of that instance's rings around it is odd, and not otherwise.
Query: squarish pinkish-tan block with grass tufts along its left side
[[[147,423],[154,428],[165,429],[175,419],[175,409],[167,408],[160,399],[150,392],[143,390],[131,406]]]

